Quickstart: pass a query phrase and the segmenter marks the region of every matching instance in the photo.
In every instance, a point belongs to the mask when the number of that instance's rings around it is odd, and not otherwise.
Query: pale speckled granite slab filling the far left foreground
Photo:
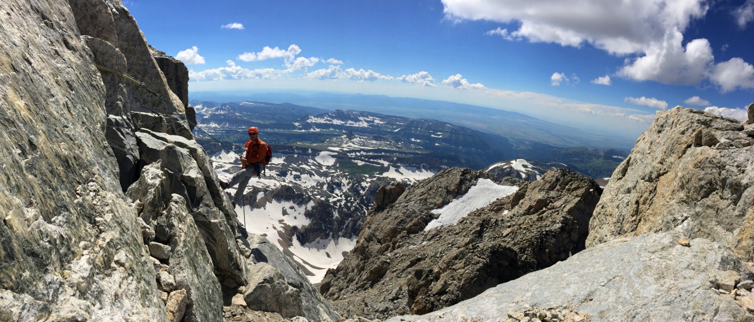
[[[0,25],[0,319],[166,320],[75,16],[10,1]]]

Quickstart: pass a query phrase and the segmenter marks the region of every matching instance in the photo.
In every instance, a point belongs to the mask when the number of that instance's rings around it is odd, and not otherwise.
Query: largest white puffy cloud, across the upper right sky
[[[690,85],[716,71],[710,42],[685,41],[682,35],[692,21],[706,16],[708,0],[442,2],[450,20],[518,25],[512,31],[498,27],[487,35],[571,47],[591,44],[615,56],[628,56],[618,75],[632,80]],[[747,0],[733,14],[739,26],[754,21],[754,0]],[[747,77],[710,79],[722,92],[749,87]]]

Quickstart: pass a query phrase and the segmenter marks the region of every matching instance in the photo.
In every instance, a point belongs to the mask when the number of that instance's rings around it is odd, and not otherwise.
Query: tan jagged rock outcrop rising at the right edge
[[[658,112],[605,187],[587,247],[676,229],[754,256],[754,133],[745,129],[690,108]]]

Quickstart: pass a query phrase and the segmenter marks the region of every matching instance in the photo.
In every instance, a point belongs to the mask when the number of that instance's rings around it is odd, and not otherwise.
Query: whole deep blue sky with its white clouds
[[[124,5],[192,91],[438,99],[627,135],[676,105],[742,118],[754,102],[754,0]]]

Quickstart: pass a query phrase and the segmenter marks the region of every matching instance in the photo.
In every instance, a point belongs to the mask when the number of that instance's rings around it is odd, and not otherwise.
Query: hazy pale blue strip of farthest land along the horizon
[[[431,118],[494,133],[505,138],[535,141],[555,147],[583,146],[599,150],[612,148],[629,151],[636,143],[636,138],[633,137],[605,135],[605,133],[588,129],[562,126],[516,112],[428,99],[333,93],[233,95],[214,92],[192,92],[191,99],[216,102],[293,103],[329,111],[358,110],[418,119]]]

